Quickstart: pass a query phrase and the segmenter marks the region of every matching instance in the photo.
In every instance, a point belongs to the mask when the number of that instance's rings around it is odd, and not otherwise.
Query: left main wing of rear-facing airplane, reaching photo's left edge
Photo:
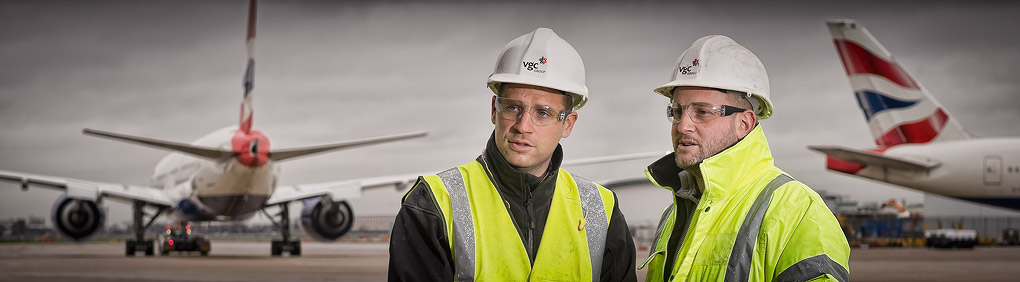
[[[28,190],[33,185],[63,190],[67,193],[67,197],[70,198],[95,201],[102,197],[112,197],[124,201],[141,200],[157,206],[174,206],[174,202],[163,193],[162,189],[154,187],[94,182],[8,171],[0,171],[0,181],[20,183],[21,189],[24,190]]]

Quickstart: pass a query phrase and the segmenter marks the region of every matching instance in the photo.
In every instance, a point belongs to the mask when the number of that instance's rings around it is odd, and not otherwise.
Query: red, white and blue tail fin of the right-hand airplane
[[[890,147],[970,138],[867,29],[850,19],[826,24],[875,144]]]

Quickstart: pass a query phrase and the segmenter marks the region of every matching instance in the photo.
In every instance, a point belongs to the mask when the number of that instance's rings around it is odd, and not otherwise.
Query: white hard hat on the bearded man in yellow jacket
[[[765,65],[748,48],[725,36],[711,35],[695,41],[676,60],[670,82],[655,92],[672,98],[673,88],[679,86],[743,92],[758,120],[772,115]]]

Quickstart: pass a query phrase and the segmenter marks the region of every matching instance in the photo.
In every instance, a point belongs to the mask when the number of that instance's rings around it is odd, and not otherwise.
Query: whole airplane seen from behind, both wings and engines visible
[[[157,140],[95,129],[84,129],[88,136],[150,146],[171,151],[154,169],[152,185],[128,185],[96,182],[20,172],[0,171],[0,181],[19,183],[22,190],[32,186],[64,191],[53,205],[52,222],[61,235],[83,241],[103,228],[105,212],[100,204],[106,198],[132,203],[135,238],[125,241],[125,254],[155,253],[155,241],[145,238],[158,217],[167,215],[184,224],[209,221],[244,221],[258,212],[264,214],[280,232],[280,239],[270,243],[271,254],[301,254],[301,241],[291,234],[290,203],[301,201],[300,226],[305,234],[320,241],[334,241],[350,231],[354,213],[346,199],[360,197],[363,190],[410,187],[418,176],[437,172],[351,179],[336,182],[277,185],[279,162],[339,149],[419,138],[425,132],[373,137],[346,142],[272,149],[269,138],[253,128],[254,39],[256,1],[248,13],[248,60],[243,77],[244,96],[238,126],[222,128],[191,143]],[[581,166],[659,156],[659,152],[634,153],[565,160],[561,166]],[[267,208],[278,208],[270,215]]]

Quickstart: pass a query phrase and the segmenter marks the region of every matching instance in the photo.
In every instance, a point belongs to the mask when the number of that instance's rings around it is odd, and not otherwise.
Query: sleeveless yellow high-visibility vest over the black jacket
[[[482,163],[424,177],[446,222],[456,281],[598,281],[615,204],[608,189],[559,170],[532,266]]]

